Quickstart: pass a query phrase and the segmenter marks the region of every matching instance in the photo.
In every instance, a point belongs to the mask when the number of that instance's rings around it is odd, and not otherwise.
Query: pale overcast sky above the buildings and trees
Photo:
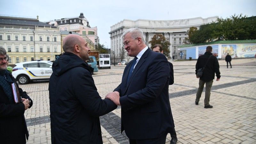
[[[196,17],[222,18],[243,13],[256,16],[256,0],[1,0],[0,14],[36,18],[45,22],[78,17],[98,28],[100,44],[110,48],[110,26],[129,20],[180,20]]]

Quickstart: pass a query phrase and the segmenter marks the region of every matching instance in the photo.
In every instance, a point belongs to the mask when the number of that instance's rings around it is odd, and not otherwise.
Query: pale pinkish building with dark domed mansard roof
[[[60,20],[52,20],[46,23],[58,26],[60,31],[73,31],[80,35],[85,35],[93,42],[94,45],[99,43],[97,27],[91,27],[83,13],[80,13],[79,17],[62,18]]]

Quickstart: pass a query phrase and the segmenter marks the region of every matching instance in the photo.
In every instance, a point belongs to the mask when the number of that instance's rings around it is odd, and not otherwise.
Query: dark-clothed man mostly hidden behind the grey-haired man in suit
[[[163,47],[161,44],[156,44],[152,47],[152,50],[154,52],[161,52],[164,54],[164,50],[163,50]],[[171,62],[168,61],[168,64],[170,66],[170,80],[169,80],[169,85],[172,85],[174,83],[174,76],[173,76],[173,65]],[[172,116],[172,110],[171,110],[171,106],[170,106],[170,113],[171,113],[171,116]],[[172,117],[172,123],[174,124],[174,120],[173,120],[173,117]],[[171,141],[170,141],[170,144],[176,144],[177,141],[178,141],[178,138],[177,138],[177,134],[176,134],[176,131],[175,131],[175,128],[173,127],[172,129],[172,132],[170,132],[170,135],[171,135]]]

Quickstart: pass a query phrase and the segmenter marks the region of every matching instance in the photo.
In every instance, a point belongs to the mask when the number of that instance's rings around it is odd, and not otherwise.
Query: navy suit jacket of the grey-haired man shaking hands
[[[133,61],[133,60],[132,60]],[[170,113],[170,67],[166,57],[149,48],[134,68],[126,85],[130,61],[124,68],[120,93],[121,132],[130,139],[153,139],[170,133],[174,124]]]

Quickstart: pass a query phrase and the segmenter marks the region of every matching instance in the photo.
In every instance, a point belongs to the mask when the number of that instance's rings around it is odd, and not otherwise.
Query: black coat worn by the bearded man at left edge
[[[13,82],[16,83],[20,96],[24,99],[30,100],[31,108],[33,101],[27,95],[27,92],[23,92],[22,89],[17,84],[14,77],[12,77]],[[26,138],[28,139],[28,129],[24,117],[25,107],[23,103],[14,104],[10,103],[8,96],[4,93],[3,88],[0,86],[0,139],[1,143],[26,143]],[[26,136],[26,137],[25,137]]]

